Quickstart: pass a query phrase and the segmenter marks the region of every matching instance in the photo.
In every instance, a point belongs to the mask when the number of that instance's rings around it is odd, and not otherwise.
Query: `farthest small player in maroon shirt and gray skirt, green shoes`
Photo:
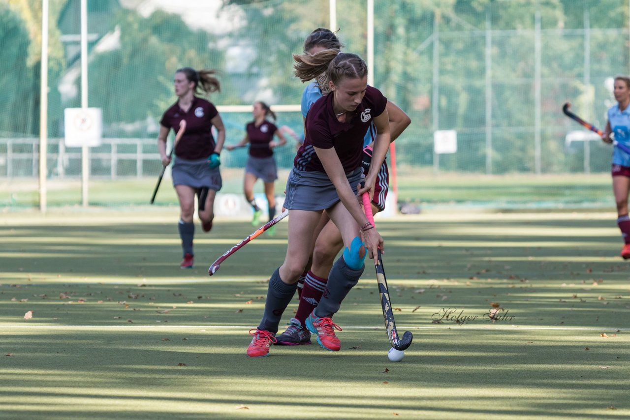
[[[227,150],[234,150],[236,147],[243,147],[249,143],[249,157],[245,166],[245,178],[243,181],[243,191],[245,199],[251,205],[254,211],[254,219],[252,225],[260,223],[260,214],[262,211],[256,204],[254,199],[254,184],[258,178],[265,183],[265,195],[269,210],[269,220],[275,217],[275,195],[273,195],[273,183],[278,179],[278,169],[275,159],[273,158],[273,149],[278,146],[285,145],[287,140],[278,127],[267,118],[276,119],[275,113],[269,106],[261,101],[254,103],[254,109],[251,112],[254,120],[245,127],[245,137],[243,140],[234,145],[226,145]],[[273,140],[273,136],[278,137],[277,142]],[[268,233],[273,235],[275,227],[270,227]]]

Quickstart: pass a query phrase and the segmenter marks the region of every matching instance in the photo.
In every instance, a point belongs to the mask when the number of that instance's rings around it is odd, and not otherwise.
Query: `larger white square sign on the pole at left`
[[[66,147],[101,145],[103,111],[101,108],[66,108],[64,110]]]

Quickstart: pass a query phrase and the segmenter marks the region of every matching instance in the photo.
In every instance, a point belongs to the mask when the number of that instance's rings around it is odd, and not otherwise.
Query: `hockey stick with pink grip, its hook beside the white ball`
[[[374,226],[374,214],[372,214],[372,202],[368,193],[363,193],[363,210],[365,217]],[[367,252],[367,250],[366,250]],[[381,308],[383,310],[383,318],[385,320],[385,328],[387,330],[387,338],[389,343],[396,350],[404,350],[411,345],[413,334],[411,331],[405,331],[403,338],[399,338],[396,322],[394,321],[394,312],[392,311],[391,300],[389,300],[389,288],[387,288],[387,278],[385,277],[385,267],[381,257],[381,249],[377,249],[374,256],[374,268],[376,270],[376,281],[379,284],[379,295],[381,296]]]

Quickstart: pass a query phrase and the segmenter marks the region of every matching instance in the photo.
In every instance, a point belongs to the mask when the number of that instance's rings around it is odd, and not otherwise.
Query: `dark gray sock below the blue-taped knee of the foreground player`
[[[363,274],[365,264],[358,270],[348,267],[346,261],[341,256],[328,275],[328,283],[324,289],[318,306],[314,309],[318,317],[332,317],[341,307],[341,301],[348,295],[348,292],[358,283],[358,279]]]

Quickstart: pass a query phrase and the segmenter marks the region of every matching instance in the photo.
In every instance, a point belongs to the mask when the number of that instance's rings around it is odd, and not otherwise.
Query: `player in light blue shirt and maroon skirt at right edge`
[[[602,140],[612,143],[610,134],[620,144],[630,146],[630,77],[616,76],[614,91],[617,105],[608,110],[608,121]],[[630,154],[619,147],[612,152],[612,191],[617,203],[617,225],[624,239],[621,249],[623,259],[630,258],[630,217],[628,216],[628,190],[630,189]]]

